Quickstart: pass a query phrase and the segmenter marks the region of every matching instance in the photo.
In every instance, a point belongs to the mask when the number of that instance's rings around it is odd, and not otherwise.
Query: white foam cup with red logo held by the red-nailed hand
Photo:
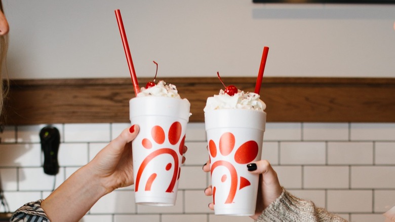
[[[173,206],[177,198],[190,103],[145,96],[130,100],[130,121],[140,131],[132,141],[135,201]]]

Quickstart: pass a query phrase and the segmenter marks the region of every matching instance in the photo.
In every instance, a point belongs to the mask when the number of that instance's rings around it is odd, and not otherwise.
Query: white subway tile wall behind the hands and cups
[[[54,124],[61,134],[56,176],[42,168],[38,133],[44,126],[6,126],[0,133],[0,181],[11,211],[46,198],[130,123]],[[188,151],[175,206],[137,205],[131,186],[104,196],[81,221],[252,221],[216,216],[208,208],[212,199],[203,193],[210,183],[202,171],[208,160],[204,123],[188,124],[186,133]],[[382,213],[395,206],[393,123],[267,123],[262,158],[288,191],[349,221],[384,221]]]

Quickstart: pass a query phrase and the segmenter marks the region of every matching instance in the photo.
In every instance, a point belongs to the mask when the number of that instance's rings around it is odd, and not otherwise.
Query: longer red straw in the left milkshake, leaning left
[[[124,50],[126,55],[126,60],[128,61],[130,76],[132,77],[134,93],[137,94],[140,92],[140,87],[137,82],[136,71],[134,70],[132,55],[130,54],[128,39],[126,38],[124,22],[122,21],[121,11],[119,9],[115,10],[116,21],[118,22],[118,27],[120,28],[122,43],[124,44]]]

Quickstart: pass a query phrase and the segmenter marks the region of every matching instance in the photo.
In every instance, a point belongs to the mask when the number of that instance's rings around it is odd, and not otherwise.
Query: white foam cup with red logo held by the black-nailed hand
[[[214,213],[254,215],[259,175],[247,164],[261,158],[266,113],[252,109],[205,112]]]

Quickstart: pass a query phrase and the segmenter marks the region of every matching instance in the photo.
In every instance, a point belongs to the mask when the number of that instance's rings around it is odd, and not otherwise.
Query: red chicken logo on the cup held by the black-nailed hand
[[[217,157],[217,155],[222,155],[222,156],[228,156],[230,153],[232,153],[234,149],[234,144],[235,144],[235,137],[232,133],[226,132],[223,133],[219,139],[219,146],[217,149],[216,143],[211,139],[209,141],[209,152],[210,152],[210,163],[211,159]],[[255,160],[255,158],[258,156],[258,144],[253,141],[247,141],[243,143],[234,153],[234,161],[239,164],[247,164]],[[218,152],[219,151],[219,154]],[[230,174],[230,181],[227,179],[226,174],[222,175],[221,177],[221,182],[229,182],[230,183],[230,190],[229,194],[225,200],[225,204],[227,203],[233,203],[233,199],[236,195],[236,192],[247,186],[251,185],[251,182],[246,179],[245,177],[240,176],[239,180],[239,175],[234,168],[233,164],[231,164],[228,161],[225,160],[217,160],[212,163],[211,165],[211,175],[213,174],[214,170],[219,167],[225,167]],[[217,188],[213,187],[213,200],[215,204],[215,192]]]

